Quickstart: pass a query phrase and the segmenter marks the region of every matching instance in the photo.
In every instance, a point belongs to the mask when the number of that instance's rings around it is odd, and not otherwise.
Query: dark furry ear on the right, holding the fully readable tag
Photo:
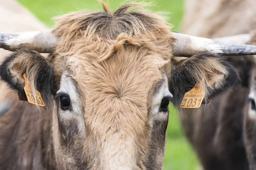
[[[169,91],[173,94],[176,105],[180,105],[186,92],[199,83],[205,92],[204,101],[228,88],[239,79],[235,68],[215,54],[197,54],[187,59],[171,60],[168,75]]]

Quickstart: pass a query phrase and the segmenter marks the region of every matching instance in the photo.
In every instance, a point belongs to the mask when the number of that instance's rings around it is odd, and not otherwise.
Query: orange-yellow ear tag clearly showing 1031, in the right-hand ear
[[[201,89],[200,85],[196,83],[195,87],[185,93],[180,108],[200,108],[204,95],[204,91]]]

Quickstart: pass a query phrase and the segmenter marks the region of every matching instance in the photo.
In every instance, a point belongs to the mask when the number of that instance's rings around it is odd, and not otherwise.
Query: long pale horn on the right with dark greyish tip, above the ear
[[[172,34],[177,38],[173,49],[173,55],[177,57],[190,57],[201,52],[220,54],[222,56],[244,56],[256,54],[255,45],[235,44],[179,33]]]

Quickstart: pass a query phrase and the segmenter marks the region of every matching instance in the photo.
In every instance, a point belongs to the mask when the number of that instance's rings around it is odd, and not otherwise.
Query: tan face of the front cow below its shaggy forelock
[[[160,168],[172,100],[163,59],[128,44],[101,62],[83,54],[55,59],[55,70],[64,68],[53,113],[60,166]]]

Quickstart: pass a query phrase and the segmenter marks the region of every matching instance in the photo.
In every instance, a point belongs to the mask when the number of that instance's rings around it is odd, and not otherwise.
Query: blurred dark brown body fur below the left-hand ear
[[[17,94],[13,96],[17,99]],[[56,167],[51,121],[23,101],[12,102],[0,117],[0,169],[32,170]]]

